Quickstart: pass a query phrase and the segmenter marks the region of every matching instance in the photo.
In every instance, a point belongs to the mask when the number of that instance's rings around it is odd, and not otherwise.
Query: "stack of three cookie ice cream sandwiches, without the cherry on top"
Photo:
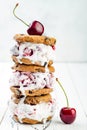
[[[16,34],[11,49],[14,66],[10,78],[10,109],[20,123],[37,124],[51,120],[55,113],[52,96],[55,85],[53,67],[56,39]]]

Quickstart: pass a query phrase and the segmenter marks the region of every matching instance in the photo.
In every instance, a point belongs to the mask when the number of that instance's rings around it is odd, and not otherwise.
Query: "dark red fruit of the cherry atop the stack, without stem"
[[[29,35],[42,35],[44,32],[44,26],[39,21],[33,21],[27,33]]]

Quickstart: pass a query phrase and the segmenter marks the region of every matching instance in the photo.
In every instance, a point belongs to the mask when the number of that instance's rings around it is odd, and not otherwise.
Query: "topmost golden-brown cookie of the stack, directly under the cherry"
[[[38,44],[43,43],[50,46],[54,46],[56,43],[55,38],[47,37],[47,36],[38,36],[38,35],[16,34],[14,36],[14,39],[18,43],[24,43],[24,42],[32,42]]]

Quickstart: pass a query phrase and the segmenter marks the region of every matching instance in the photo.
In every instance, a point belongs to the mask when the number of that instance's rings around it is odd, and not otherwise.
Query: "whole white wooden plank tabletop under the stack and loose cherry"
[[[10,117],[8,101],[11,96],[9,78],[10,63],[0,63],[0,130],[45,130],[43,125],[22,125],[15,123]],[[59,87],[56,88],[58,108],[53,120],[46,124],[47,130],[86,130],[87,129],[87,64],[86,63],[55,63],[55,76],[64,86],[71,107],[77,110],[77,117],[73,124],[66,125],[59,118],[61,107],[66,105],[65,97]]]

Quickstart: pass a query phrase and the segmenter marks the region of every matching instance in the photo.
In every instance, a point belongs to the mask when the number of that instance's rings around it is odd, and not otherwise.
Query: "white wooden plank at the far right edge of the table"
[[[69,74],[72,77],[83,111],[87,116],[87,64],[69,64]]]

